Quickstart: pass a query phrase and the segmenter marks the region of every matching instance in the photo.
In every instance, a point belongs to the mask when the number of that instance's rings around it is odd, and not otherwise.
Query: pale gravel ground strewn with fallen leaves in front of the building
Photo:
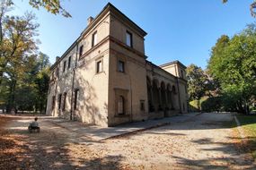
[[[92,140],[40,117],[0,117],[0,169],[253,169],[240,149],[233,115],[201,114],[144,132]],[[5,129],[3,129],[5,127]]]

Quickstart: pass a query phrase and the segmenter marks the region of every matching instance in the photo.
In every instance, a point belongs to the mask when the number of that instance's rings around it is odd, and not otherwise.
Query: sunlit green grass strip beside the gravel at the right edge
[[[246,136],[246,148],[256,158],[256,115],[236,115]]]

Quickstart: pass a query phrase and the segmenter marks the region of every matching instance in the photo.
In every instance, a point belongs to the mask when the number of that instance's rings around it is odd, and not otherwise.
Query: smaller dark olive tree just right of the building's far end
[[[190,64],[187,67],[187,78],[188,78],[188,93],[190,99],[198,100],[205,95],[207,88],[207,75],[205,72],[197,65]]]

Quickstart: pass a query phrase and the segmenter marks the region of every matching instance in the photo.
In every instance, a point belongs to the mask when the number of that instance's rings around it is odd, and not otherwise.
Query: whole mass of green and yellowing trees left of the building
[[[8,16],[11,1],[0,6],[0,106],[10,111],[45,110],[49,84],[49,57],[38,54],[35,16]]]

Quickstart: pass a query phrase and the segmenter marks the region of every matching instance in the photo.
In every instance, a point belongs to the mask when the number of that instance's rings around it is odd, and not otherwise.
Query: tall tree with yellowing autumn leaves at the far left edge
[[[15,106],[17,88],[24,81],[30,58],[37,53],[35,36],[39,24],[35,23],[32,13],[25,13],[23,16],[7,15],[12,9],[11,1],[1,0],[0,4],[0,96],[8,91],[6,105],[10,109]]]

